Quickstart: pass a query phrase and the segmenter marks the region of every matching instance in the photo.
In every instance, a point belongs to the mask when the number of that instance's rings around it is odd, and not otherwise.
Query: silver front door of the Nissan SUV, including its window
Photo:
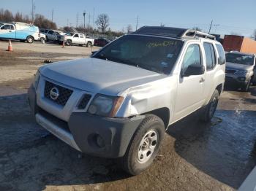
[[[204,66],[200,44],[189,44],[185,52],[181,65],[181,73],[186,73],[186,70],[191,65]],[[201,72],[201,74],[199,73],[189,76],[181,75],[179,77],[174,112],[175,120],[187,116],[203,105],[205,71]]]

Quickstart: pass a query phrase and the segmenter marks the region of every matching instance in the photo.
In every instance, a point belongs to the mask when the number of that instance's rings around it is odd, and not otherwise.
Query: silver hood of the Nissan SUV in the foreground
[[[117,95],[129,87],[166,77],[165,74],[97,58],[51,63],[39,71],[64,85],[106,95]]]

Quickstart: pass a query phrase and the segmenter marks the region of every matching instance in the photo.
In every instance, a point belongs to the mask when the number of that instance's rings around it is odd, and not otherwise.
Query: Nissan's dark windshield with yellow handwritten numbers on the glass
[[[176,39],[127,35],[109,44],[92,57],[170,74],[182,45],[183,42]]]

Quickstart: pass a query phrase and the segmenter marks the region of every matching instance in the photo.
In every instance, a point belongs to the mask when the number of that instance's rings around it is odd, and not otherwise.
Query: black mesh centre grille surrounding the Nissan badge
[[[50,98],[50,90],[53,89],[53,87],[56,87],[59,90],[59,97],[56,100]],[[53,84],[52,82],[45,81],[45,98],[48,98],[50,101],[53,101],[56,104],[65,106],[72,93],[73,91],[67,89],[66,87],[61,87],[59,85]]]

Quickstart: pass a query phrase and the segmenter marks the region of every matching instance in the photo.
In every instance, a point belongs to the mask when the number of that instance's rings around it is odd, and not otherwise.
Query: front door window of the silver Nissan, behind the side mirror
[[[184,60],[182,63],[182,69],[186,71],[187,68],[191,65],[195,65],[195,66],[201,65],[201,53],[200,53],[200,47],[198,44],[191,44],[187,48],[187,52],[184,55]]]

